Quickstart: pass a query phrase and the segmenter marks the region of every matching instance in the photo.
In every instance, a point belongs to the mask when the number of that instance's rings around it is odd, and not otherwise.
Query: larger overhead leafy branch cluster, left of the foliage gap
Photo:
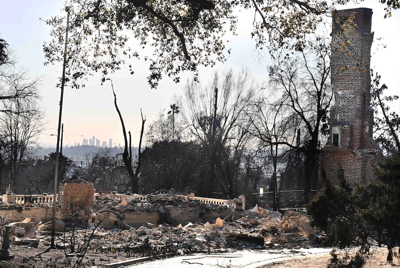
[[[65,4],[71,17],[67,82],[79,87],[87,74],[106,77],[139,56],[150,62],[147,79],[152,87],[162,72],[179,81],[181,71],[195,73],[197,65],[225,59],[222,36],[226,23],[234,31],[233,7],[226,0],[72,0]],[[62,58],[63,13],[46,20],[52,26],[52,40],[43,45],[46,63]],[[144,54],[146,47],[153,49],[153,56]],[[133,73],[131,62],[128,66]]]

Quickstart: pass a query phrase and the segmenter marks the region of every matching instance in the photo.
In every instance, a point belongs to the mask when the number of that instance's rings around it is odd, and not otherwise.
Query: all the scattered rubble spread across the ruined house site
[[[97,200],[95,207],[121,214],[129,210],[165,214],[172,210],[227,210],[171,196],[148,197],[140,203],[131,200],[125,207],[120,202]],[[87,215],[57,221],[56,226],[56,245],[60,248],[81,254],[88,251],[126,257],[217,253],[229,248],[307,248],[308,237],[316,234],[303,214],[285,211],[282,215],[257,206],[249,211],[229,211],[228,216],[212,222],[186,222],[175,226],[147,223],[139,228],[125,225],[122,229],[109,230],[99,217]],[[49,223],[42,224],[35,219],[14,223],[10,230],[11,243],[48,247],[49,228]]]

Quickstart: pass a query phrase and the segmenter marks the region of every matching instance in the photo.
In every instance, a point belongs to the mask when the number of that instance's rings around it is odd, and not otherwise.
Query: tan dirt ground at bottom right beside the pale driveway
[[[400,263],[398,260],[393,261],[393,266],[386,262],[387,250],[377,249],[374,254],[369,258],[364,268],[392,268],[398,267]],[[323,255],[310,255],[306,257],[293,258],[286,261],[277,261],[268,265],[260,266],[258,268],[326,268],[331,256],[329,254]]]

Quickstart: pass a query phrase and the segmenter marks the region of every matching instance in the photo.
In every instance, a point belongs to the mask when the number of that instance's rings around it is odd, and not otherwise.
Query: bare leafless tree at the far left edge
[[[29,156],[27,148],[37,144],[44,122],[38,79],[16,70],[8,54],[6,59],[0,64],[0,184],[7,170],[12,185],[17,166]]]

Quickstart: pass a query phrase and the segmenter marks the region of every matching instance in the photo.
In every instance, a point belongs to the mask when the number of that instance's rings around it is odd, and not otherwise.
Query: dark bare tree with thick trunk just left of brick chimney
[[[270,86],[279,94],[272,105],[281,107],[300,129],[298,142],[278,143],[298,150],[304,157],[304,202],[308,202],[311,188],[316,188],[320,140],[327,134],[327,113],[333,97],[329,45],[320,37],[307,44],[307,48],[290,51],[269,68]]]

